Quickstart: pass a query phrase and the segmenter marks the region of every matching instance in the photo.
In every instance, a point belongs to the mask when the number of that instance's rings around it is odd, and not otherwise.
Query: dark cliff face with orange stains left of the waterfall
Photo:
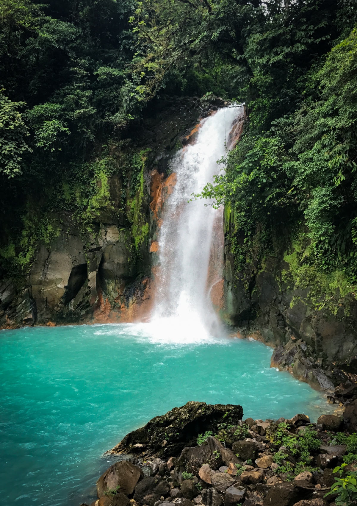
[[[123,149],[141,156],[136,194],[130,198],[118,170],[108,178],[106,205],[85,227],[70,210],[52,213],[55,238],[38,242],[26,277],[0,273],[0,328],[145,318],[157,264],[156,229],[175,184],[169,160],[208,112],[198,99],[161,100],[123,135]]]

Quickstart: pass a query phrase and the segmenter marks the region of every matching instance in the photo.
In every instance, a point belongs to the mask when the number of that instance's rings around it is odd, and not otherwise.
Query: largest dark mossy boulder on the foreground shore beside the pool
[[[242,419],[242,406],[233,404],[206,404],[190,401],[185,406],[173,408],[162,416],[152,418],[145,427],[127,434],[117,444],[112,453],[130,452],[137,443],[146,444],[148,454],[177,455],[184,447],[196,445],[197,427],[202,434],[206,431],[218,432],[218,425],[227,422],[226,413],[232,425]],[[223,418],[225,416],[225,418]],[[169,444],[162,446],[165,434],[169,435]],[[204,463],[203,461],[201,462]]]

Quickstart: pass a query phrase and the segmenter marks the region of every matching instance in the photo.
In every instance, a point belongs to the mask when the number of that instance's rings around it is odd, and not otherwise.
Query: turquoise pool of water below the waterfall
[[[37,327],[0,332],[0,496],[22,506],[88,501],[127,432],[189,400],[241,404],[244,416],[317,419],[324,398],[271,369],[255,341],[171,325]],[[186,328],[186,330],[185,330]]]

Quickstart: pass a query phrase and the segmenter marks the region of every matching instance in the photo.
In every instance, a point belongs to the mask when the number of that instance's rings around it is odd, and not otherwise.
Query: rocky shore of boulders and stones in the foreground
[[[335,444],[337,432],[357,430],[357,404],[346,413],[321,415],[317,424],[304,414],[242,421],[239,405],[188,402],[108,452],[119,458],[98,479],[91,506],[335,506],[336,495],[324,495],[348,447]],[[306,438],[315,444],[303,460]]]

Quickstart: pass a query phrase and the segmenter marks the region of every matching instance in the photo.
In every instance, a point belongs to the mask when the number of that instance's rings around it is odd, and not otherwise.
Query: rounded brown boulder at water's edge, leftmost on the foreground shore
[[[143,471],[128,460],[115,462],[97,481],[97,495],[101,497],[108,490],[115,490],[117,487],[120,487],[120,492],[125,495],[132,494],[143,477]]]

